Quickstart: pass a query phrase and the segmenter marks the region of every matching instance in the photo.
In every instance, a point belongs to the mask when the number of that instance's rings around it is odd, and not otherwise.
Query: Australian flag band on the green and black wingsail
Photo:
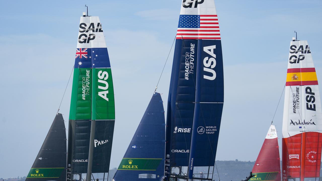
[[[110,68],[107,48],[77,48],[75,68]]]

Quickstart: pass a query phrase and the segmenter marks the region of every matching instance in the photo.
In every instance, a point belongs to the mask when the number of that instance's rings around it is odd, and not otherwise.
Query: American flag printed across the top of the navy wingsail
[[[220,40],[217,15],[180,15],[176,39]]]

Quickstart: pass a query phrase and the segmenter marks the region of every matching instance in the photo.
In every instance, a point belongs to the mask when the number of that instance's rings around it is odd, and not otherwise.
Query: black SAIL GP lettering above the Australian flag
[[[89,27],[87,28],[86,23],[80,24],[79,32],[82,33],[78,37],[79,43],[90,43],[91,40],[94,40],[96,35],[95,32],[103,32],[102,25],[100,23],[97,23],[97,26],[95,26],[96,23],[90,23]],[[91,32],[90,32],[91,31]]]

